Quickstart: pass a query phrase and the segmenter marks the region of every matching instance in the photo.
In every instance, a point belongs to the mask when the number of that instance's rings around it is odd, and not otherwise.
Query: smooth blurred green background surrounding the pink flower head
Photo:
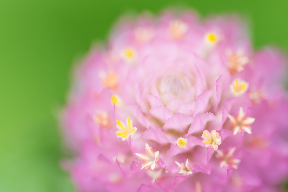
[[[239,13],[249,20],[256,49],[288,50],[287,0],[0,1],[0,192],[74,191],[60,169],[56,120],[73,63],[92,42],[106,41],[120,15],[174,5],[201,16]]]

